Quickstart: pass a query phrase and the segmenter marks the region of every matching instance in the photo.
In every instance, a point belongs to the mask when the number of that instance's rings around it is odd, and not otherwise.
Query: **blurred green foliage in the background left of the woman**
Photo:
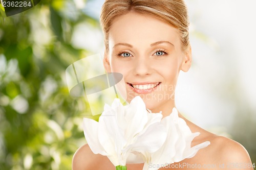
[[[91,53],[71,44],[82,22],[99,28],[71,0],[0,17],[0,169],[71,169],[86,142],[82,117],[90,115],[65,78],[70,64]]]

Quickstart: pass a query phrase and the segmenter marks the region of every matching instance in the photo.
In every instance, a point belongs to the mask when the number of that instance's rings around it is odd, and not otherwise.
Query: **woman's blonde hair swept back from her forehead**
[[[107,52],[109,50],[109,31],[113,20],[130,11],[152,15],[169,23],[178,29],[182,49],[186,50],[189,46],[189,20],[183,0],[106,0],[101,9],[100,22]]]

